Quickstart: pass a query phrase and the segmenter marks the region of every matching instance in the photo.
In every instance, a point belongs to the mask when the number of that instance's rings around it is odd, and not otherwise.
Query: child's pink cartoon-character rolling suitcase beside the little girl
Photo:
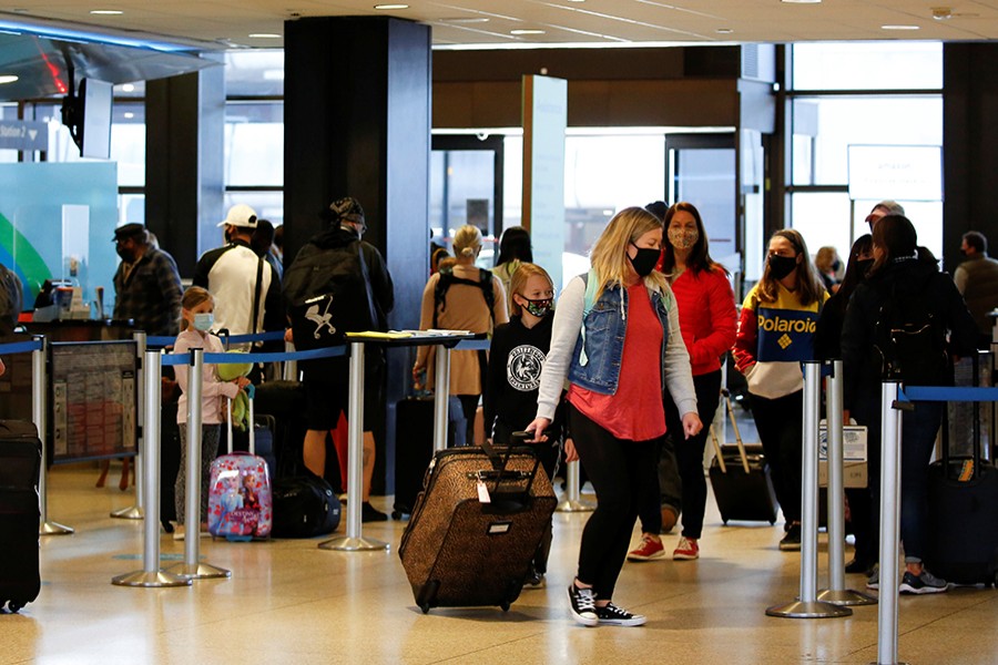
[[[249,398],[253,422],[253,398]],[[267,462],[254,454],[256,441],[249,428],[249,452],[232,451],[232,422],[228,423],[228,454],[212,462],[208,490],[208,532],[233,541],[265,539],[274,522],[271,479]]]

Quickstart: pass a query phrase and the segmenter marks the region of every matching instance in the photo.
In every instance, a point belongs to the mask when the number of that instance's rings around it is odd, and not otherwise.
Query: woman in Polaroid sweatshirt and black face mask
[[[732,354],[748,381],[752,416],[786,519],[781,550],[801,549],[801,362],[815,358],[814,332],[827,299],[801,233],[774,233],[762,279],[742,304]]]

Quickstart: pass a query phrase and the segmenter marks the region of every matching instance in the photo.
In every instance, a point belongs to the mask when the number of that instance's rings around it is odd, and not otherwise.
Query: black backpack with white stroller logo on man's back
[[[299,254],[284,274],[283,289],[298,350],[336,346],[348,331],[378,326],[359,242]]]

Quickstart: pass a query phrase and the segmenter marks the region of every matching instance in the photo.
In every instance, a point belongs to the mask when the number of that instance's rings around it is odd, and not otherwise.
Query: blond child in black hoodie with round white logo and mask
[[[554,285],[542,267],[521,263],[509,280],[509,323],[496,327],[489,348],[489,369],[485,391],[486,437],[497,446],[509,446],[512,432],[521,431],[533,420],[540,388],[541,368],[551,347],[551,321],[554,311]],[[561,409],[548,428],[548,441],[534,446],[549,478],[556,472],[560,437]],[[551,549],[548,530],[538,548],[526,589],[543,585]]]

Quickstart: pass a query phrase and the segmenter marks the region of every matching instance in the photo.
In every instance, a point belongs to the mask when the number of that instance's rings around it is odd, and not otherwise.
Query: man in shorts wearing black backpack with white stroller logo
[[[391,276],[377,248],[361,238],[367,231],[364,208],[350,196],[334,201],[322,213],[328,226],[313,236],[284,274],[284,300],[292,320],[291,339],[298,350],[333,346],[347,331],[387,330],[395,305]],[[326,466],[326,434],[336,429],[347,405],[348,364],[329,358],[302,364],[306,395],[305,467],[322,477]],[[374,422],[381,417],[380,349],[365,354],[364,504],[361,521],[387,520],[368,501],[374,474]],[[346,460],[339,460],[345,464]]]

